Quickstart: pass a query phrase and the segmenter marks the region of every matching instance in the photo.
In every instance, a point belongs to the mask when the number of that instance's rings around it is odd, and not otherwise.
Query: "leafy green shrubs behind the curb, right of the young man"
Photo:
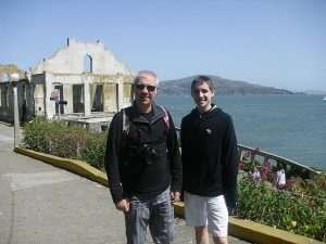
[[[313,184],[313,189],[321,189],[318,182],[324,181],[311,180],[305,191],[309,192]],[[267,181],[253,181],[250,177],[240,179],[238,188],[239,218],[326,242],[325,198],[277,190]],[[319,191],[325,193],[325,187]]]

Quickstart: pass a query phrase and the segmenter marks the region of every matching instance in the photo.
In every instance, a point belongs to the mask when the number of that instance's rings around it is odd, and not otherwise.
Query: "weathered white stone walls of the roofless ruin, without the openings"
[[[85,57],[87,57],[86,66],[88,67],[84,67]],[[3,69],[3,72],[8,70]],[[102,107],[99,111],[106,114],[115,113],[133,102],[130,87],[135,74],[100,41],[90,43],[71,38],[67,40],[67,47],[59,49],[32,72],[25,72],[24,76],[26,76],[25,81],[27,82],[17,87],[20,111],[24,100],[27,100],[26,105],[30,116],[43,115],[47,118],[58,116],[55,102],[50,100],[51,92],[57,86],[61,87],[61,99],[67,101],[67,105],[61,105],[63,108],[61,113],[64,114],[79,116],[83,113],[84,116],[91,117],[95,101],[96,103],[100,101]],[[101,98],[95,98],[95,93],[90,89],[90,86],[98,85],[102,86],[102,92],[99,94]],[[10,94],[9,88],[3,85],[0,87],[0,116],[11,118],[12,102],[11,97],[8,95]],[[78,91],[76,91],[76,87],[77,90],[79,89]],[[74,98],[74,95],[78,98]],[[95,110],[95,112],[97,111]]]

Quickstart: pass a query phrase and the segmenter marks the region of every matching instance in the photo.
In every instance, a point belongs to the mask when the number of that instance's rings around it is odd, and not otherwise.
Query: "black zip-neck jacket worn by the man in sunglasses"
[[[123,113],[114,115],[110,125],[105,170],[113,202],[129,194],[160,194],[181,189],[181,158],[173,120],[170,128],[164,114],[152,104],[150,121],[136,106],[125,108],[130,118],[129,131],[123,131]],[[122,136],[126,133],[126,136]],[[148,154],[154,150],[154,156]]]

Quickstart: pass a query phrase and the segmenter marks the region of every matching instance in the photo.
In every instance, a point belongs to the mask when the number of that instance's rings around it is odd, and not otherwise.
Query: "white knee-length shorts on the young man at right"
[[[227,236],[228,211],[224,195],[206,197],[185,192],[185,217],[188,227],[208,226],[214,236]]]

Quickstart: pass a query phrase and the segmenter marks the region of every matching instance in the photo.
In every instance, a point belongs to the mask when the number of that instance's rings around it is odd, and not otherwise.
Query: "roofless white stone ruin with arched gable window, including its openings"
[[[42,115],[104,130],[112,115],[134,100],[135,74],[103,42],[68,38],[66,47],[29,70],[0,65],[0,120],[14,118],[14,73],[20,74],[18,111],[24,121]]]

